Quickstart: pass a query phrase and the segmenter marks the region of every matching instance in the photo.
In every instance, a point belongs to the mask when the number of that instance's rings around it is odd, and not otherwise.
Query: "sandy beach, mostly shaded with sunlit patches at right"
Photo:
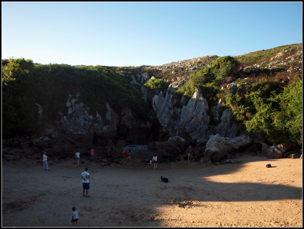
[[[2,161],[2,227],[71,227],[73,206],[78,227],[302,227],[302,159],[233,160],[241,162],[157,169],[140,158],[104,167],[73,160],[50,171],[42,159]],[[90,197],[82,196],[86,165]]]

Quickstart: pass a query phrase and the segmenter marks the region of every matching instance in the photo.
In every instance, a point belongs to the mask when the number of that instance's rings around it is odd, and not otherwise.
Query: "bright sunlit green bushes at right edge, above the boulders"
[[[276,143],[302,144],[302,75],[283,87],[261,81],[229,94],[226,105],[248,134]]]

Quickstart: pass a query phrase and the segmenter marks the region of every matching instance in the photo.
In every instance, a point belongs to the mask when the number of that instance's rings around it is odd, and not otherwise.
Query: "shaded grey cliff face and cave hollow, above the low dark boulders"
[[[143,86],[142,92],[143,99],[146,99],[147,90]],[[56,122],[63,126],[62,129],[67,134],[73,135],[76,141],[87,145],[106,146],[109,139],[114,141],[119,136],[137,144],[147,143],[150,139],[151,123],[135,119],[130,108],[123,108],[117,114],[107,103],[107,112],[103,120],[98,112],[95,115],[90,114],[89,108],[79,101],[78,97],[79,93],[76,94],[76,98],[69,95],[66,103],[67,115],[62,115],[62,119]]]

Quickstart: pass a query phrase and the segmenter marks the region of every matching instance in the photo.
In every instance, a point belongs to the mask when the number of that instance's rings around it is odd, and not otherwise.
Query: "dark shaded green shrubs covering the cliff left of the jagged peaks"
[[[68,96],[76,96],[106,120],[106,103],[117,113],[131,108],[136,118],[146,119],[148,105],[141,98],[139,85],[101,66],[74,67],[67,64],[34,64],[32,60],[10,59],[2,68],[2,136],[30,134],[37,123],[58,120],[67,115]],[[44,120],[38,122],[38,106]]]

